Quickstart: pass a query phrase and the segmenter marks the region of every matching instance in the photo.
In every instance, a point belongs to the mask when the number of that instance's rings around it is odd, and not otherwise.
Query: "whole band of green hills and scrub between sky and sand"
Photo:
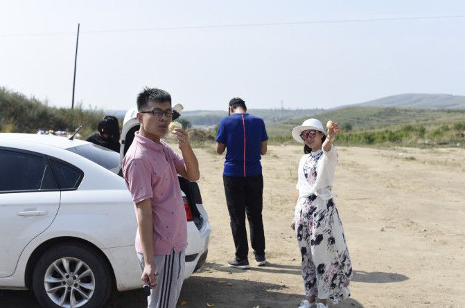
[[[290,131],[307,118],[340,124],[340,145],[405,145],[464,147],[465,109],[411,109],[349,106],[323,109],[250,109],[265,120],[270,143],[290,143]],[[35,98],[0,87],[0,132],[35,133],[37,129],[72,132],[83,124],[83,138],[94,133],[100,110],[49,107]],[[193,125],[216,125],[226,111],[184,111],[182,119]],[[120,125],[122,121],[120,119]],[[213,142],[213,131],[191,131],[193,142]],[[202,136],[198,138],[196,136]],[[205,137],[205,138],[204,138]],[[206,138],[208,137],[208,138]]]

